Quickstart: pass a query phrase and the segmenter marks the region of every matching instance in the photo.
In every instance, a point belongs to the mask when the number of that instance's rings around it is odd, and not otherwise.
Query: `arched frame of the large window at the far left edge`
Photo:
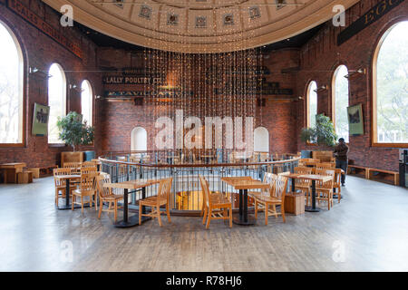
[[[23,42],[21,41],[20,35],[15,31],[14,25],[9,24],[5,19],[0,17],[0,25],[3,25],[5,27],[5,30],[8,31],[8,33],[12,36],[12,38],[15,41],[15,47],[17,49],[17,53],[20,54],[20,80],[21,80],[21,97],[22,97],[22,115],[20,116],[20,120],[22,121],[22,138],[20,143],[0,143],[0,148],[24,148],[25,147],[25,141],[26,141],[26,136],[25,136],[25,130],[26,130],[26,88],[27,88],[27,67],[26,67],[26,55],[25,55],[25,50],[23,46]]]

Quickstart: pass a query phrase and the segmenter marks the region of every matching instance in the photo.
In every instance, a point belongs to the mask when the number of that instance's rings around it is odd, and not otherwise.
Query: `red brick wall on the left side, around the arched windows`
[[[81,86],[84,79],[92,83],[93,93],[102,94],[101,76],[99,73],[87,73],[97,71],[95,62],[95,45],[87,40],[74,28],[63,28],[59,24],[59,16],[41,1],[22,0],[35,14],[38,14],[53,28],[60,31],[70,39],[76,39],[82,43],[83,59],[79,59],[73,53],[66,50],[59,43],[54,42],[31,24],[25,22],[20,16],[9,10],[4,0],[0,0],[0,21],[7,24],[20,41],[24,53],[24,147],[23,148],[0,148],[0,163],[26,162],[29,167],[48,167],[57,164],[62,151],[72,151],[71,147],[51,147],[47,137],[32,136],[32,121],[34,103],[47,104],[47,79],[40,73],[28,74],[29,67],[37,67],[41,71],[48,71],[52,63],[57,62],[63,66],[66,73],[67,85],[70,83]],[[97,111],[97,104],[94,105]],[[67,88],[67,111],[81,112],[81,94]],[[97,127],[97,130],[99,128]],[[99,138],[99,137],[98,137]],[[95,140],[95,144],[99,139]],[[93,150],[93,146],[85,148]]]

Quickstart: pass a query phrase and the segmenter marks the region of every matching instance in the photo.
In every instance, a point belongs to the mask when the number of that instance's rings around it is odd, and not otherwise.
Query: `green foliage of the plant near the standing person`
[[[300,133],[300,140],[329,147],[335,146],[337,135],[335,126],[330,118],[323,114],[316,115],[316,127],[304,128]]]

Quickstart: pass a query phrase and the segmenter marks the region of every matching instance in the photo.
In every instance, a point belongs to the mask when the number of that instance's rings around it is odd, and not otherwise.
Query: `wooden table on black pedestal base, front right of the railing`
[[[223,178],[221,181],[239,190],[239,214],[234,215],[234,224],[254,225],[256,219],[253,216],[248,216],[248,189],[269,189],[270,185],[251,177]]]

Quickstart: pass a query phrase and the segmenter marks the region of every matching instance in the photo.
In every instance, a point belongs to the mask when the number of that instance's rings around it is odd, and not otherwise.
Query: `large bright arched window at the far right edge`
[[[408,143],[408,21],[394,24],[374,54],[374,143]]]

